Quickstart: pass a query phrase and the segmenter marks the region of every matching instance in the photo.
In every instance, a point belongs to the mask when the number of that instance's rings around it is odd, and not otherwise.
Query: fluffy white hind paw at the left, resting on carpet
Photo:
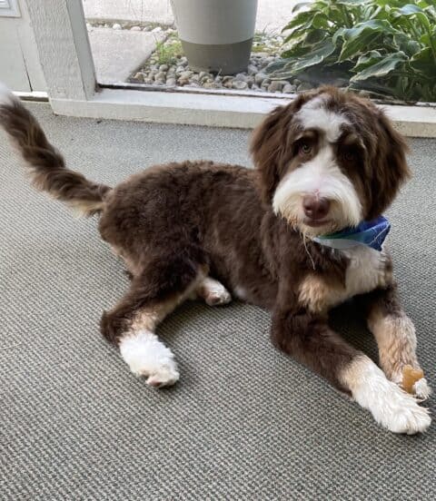
[[[150,386],[172,386],[179,378],[173,352],[151,331],[126,333],[120,341],[120,352],[132,372],[146,376]]]

